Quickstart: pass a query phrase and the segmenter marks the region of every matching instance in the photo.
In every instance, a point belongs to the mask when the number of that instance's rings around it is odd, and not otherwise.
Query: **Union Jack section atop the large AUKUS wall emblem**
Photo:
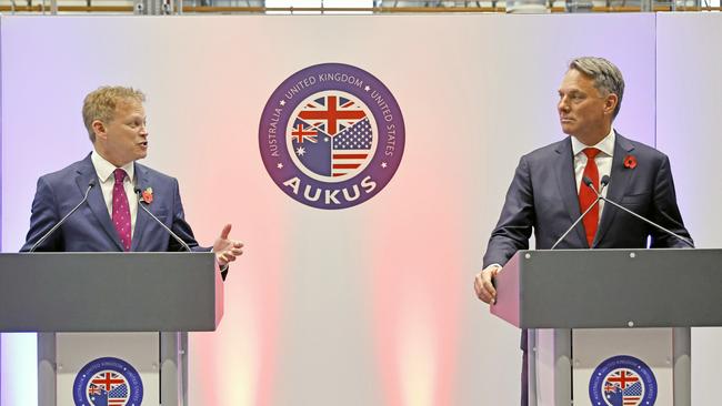
[[[340,95],[324,95],[314,99],[299,112],[299,119],[322,130],[331,138],[365,116],[358,103]]]

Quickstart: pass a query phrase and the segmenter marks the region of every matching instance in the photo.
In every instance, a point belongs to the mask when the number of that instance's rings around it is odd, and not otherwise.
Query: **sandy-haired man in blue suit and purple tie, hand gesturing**
[[[38,180],[30,231],[21,252],[30,251],[86,193],[87,203],[36,251],[183,250],[139,207],[141,204],[192,251],[209,250],[198,245],[184,220],[178,181],[136,162],[148,154],[144,100],[142,92],[122,87],[102,87],[86,97],[82,114],[93,151]],[[230,231],[227,224],[212,247],[223,271],[242,254],[243,244],[230,240]]]

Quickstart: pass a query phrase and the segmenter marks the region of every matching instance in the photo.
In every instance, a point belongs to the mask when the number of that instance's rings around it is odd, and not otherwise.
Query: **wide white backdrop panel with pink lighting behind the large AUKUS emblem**
[[[569,60],[618,63],[628,88],[616,126],[654,143],[651,14],[3,17],[0,27],[6,251],[23,241],[37,177],[90,151],[82,98],[107,83],[148,93],[146,163],[180,180],[199,240],[224,222],[244,240],[220,331],[192,337],[192,404],[517,405],[519,333],[488,314],[472,278],[519,156],[563,136],[555,103]],[[390,184],[341,211],[289,199],[258,145],[270,94],[324,62],[382,81],[407,129]],[[2,399],[29,404],[34,377],[18,365],[32,351],[7,345]]]

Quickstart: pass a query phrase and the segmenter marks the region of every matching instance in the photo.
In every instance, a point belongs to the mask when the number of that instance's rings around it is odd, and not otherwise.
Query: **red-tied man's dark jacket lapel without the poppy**
[[[576,179],[574,176],[574,156],[572,155],[572,141],[568,136],[556,146],[556,153],[560,155],[556,160],[556,185],[562,196],[566,212],[569,213],[570,224],[582,214],[579,211],[579,194],[576,192]],[[583,247],[588,247],[586,237],[584,236],[584,226],[580,222],[572,233],[576,234],[578,241]],[[568,235],[569,238],[571,236]]]

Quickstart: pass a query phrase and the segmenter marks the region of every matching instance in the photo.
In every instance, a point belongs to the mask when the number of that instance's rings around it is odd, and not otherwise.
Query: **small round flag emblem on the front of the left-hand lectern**
[[[80,369],[72,385],[76,406],[140,406],[143,384],[130,364],[119,358],[98,358]]]

